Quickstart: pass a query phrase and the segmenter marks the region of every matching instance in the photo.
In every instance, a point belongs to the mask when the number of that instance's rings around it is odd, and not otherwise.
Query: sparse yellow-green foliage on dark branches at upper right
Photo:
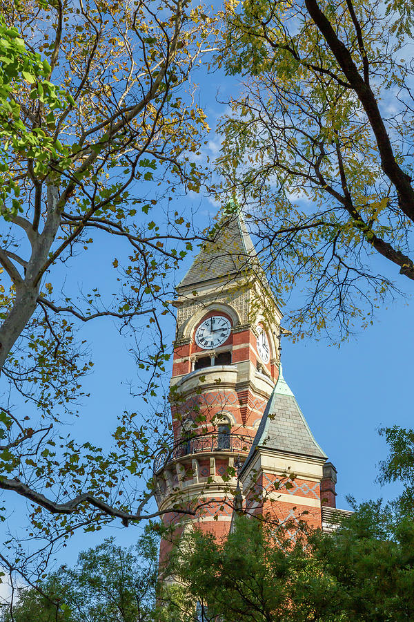
[[[227,3],[219,62],[243,87],[217,168],[279,300],[296,290],[296,337],[346,337],[397,294],[395,269],[414,279],[412,17],[400,1]]]

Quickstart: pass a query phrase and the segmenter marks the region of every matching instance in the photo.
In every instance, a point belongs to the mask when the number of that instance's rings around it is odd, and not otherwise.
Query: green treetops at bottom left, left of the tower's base
[[[83,551],[74,568],[61,566],[36,587],[19,589],[2,622],[148,622],[155,610],[158,540],[149,531],[135,547],[114,538]]]

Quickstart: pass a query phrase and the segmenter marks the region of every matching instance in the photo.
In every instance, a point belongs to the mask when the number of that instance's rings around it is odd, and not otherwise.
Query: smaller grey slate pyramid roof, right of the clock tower
[[[270,395],[241,473],[245,471],[259,447],[283,453],[306,455],[311,458],[324,458],[325,460],[327,458],[315,441],[295,395],[283,377],[282,365],[279,366],[279,378]]]

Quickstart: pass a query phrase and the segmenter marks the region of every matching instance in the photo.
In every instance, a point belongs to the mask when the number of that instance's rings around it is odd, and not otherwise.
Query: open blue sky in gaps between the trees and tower
[[[219,101],[226,100],[231,93],[237,94],[239,82],[224,78],[219,72],[206,75],[201,71],[195,76],[197,81],[199,100],[213,128],[206,148],[213,157],[219,147],[215,124],[226,110],[226,105]],[[217,205],[208,198],[192,194],[186,202],[188,207],[197,208],[200,222],[213,218],[217,211]],[[93,252],[97,256],[96,268],[101,265],[100,250],[98,247]],[[95,270],[93,253],[88,260],[92,272]],[[108,266],[110,261],[108,258]],[[185,274],[190,261],[192,257],[186,258],[177,281]],[[376,261],[379,268],[388,270],[385,261]],[[77,274],[81,274],[79,266]],[[395,276],[402,288],[408,285],[409,282],[401,282],[403,277]],[[292,343],[286,339],[283,343],[284,376],[317,442],[338,471],[337,507],[348,507],[347,495],[362,501],[381,496],[392,498],[397,493],[396,487],[382,488],[375,481],[377,463],[386,455],[386,444],[377,430],[392,424],[412,426],[414,339],[411,323],[410,299],[400,299],[380,309],[373,326],[355,334],[340,348],[315,340]],[[164,328],[170,331],[172,341],[174,326],[167,318]],[[76,425],[82,426],[82,435],[92,435],[105,444],[117,413],[124,408],[139,411],[146,406],[128,393],[126,381],[134,381],[135,377],[128,342],[119,339],[108,321],[83,330],[92,343],[95,367],[86,380],[92,395]],[[114,533],[119,542],[133,543],[137,530],[122,529],[115,523],[99,534],[78,534],[72,542],[70,557],[82,547],[99,542],[103,535]]]

